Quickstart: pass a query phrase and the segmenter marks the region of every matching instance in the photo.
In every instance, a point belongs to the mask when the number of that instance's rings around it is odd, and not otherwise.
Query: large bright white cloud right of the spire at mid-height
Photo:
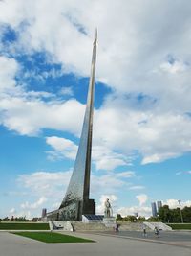
[[[190,130],[191,119],[186,115],[161,114],[157,109],[156,113],[155,109],[133,110],[119,99],[108,100],[96,112],[95,139],[104,142],[111,151],[126,155],[137,150],[143,156],[142,164],[161,162],[191,151]]]

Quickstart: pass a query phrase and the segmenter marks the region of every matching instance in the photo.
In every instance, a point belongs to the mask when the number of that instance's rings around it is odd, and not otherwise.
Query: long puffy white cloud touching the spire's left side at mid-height
[[[69,130],[78,135],[84,114],[84,105],[75,100],[46,103],[14,97],[3,99],[0,108],[4,111],[3,125],[22,135],[36,135],[42,128]]]

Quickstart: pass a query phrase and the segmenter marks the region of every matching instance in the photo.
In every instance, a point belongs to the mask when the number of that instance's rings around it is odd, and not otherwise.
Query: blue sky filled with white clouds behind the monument
[[[98,30],[96,213],[191,206],[191,2],[0,1],[0,218],[64,198]]]

